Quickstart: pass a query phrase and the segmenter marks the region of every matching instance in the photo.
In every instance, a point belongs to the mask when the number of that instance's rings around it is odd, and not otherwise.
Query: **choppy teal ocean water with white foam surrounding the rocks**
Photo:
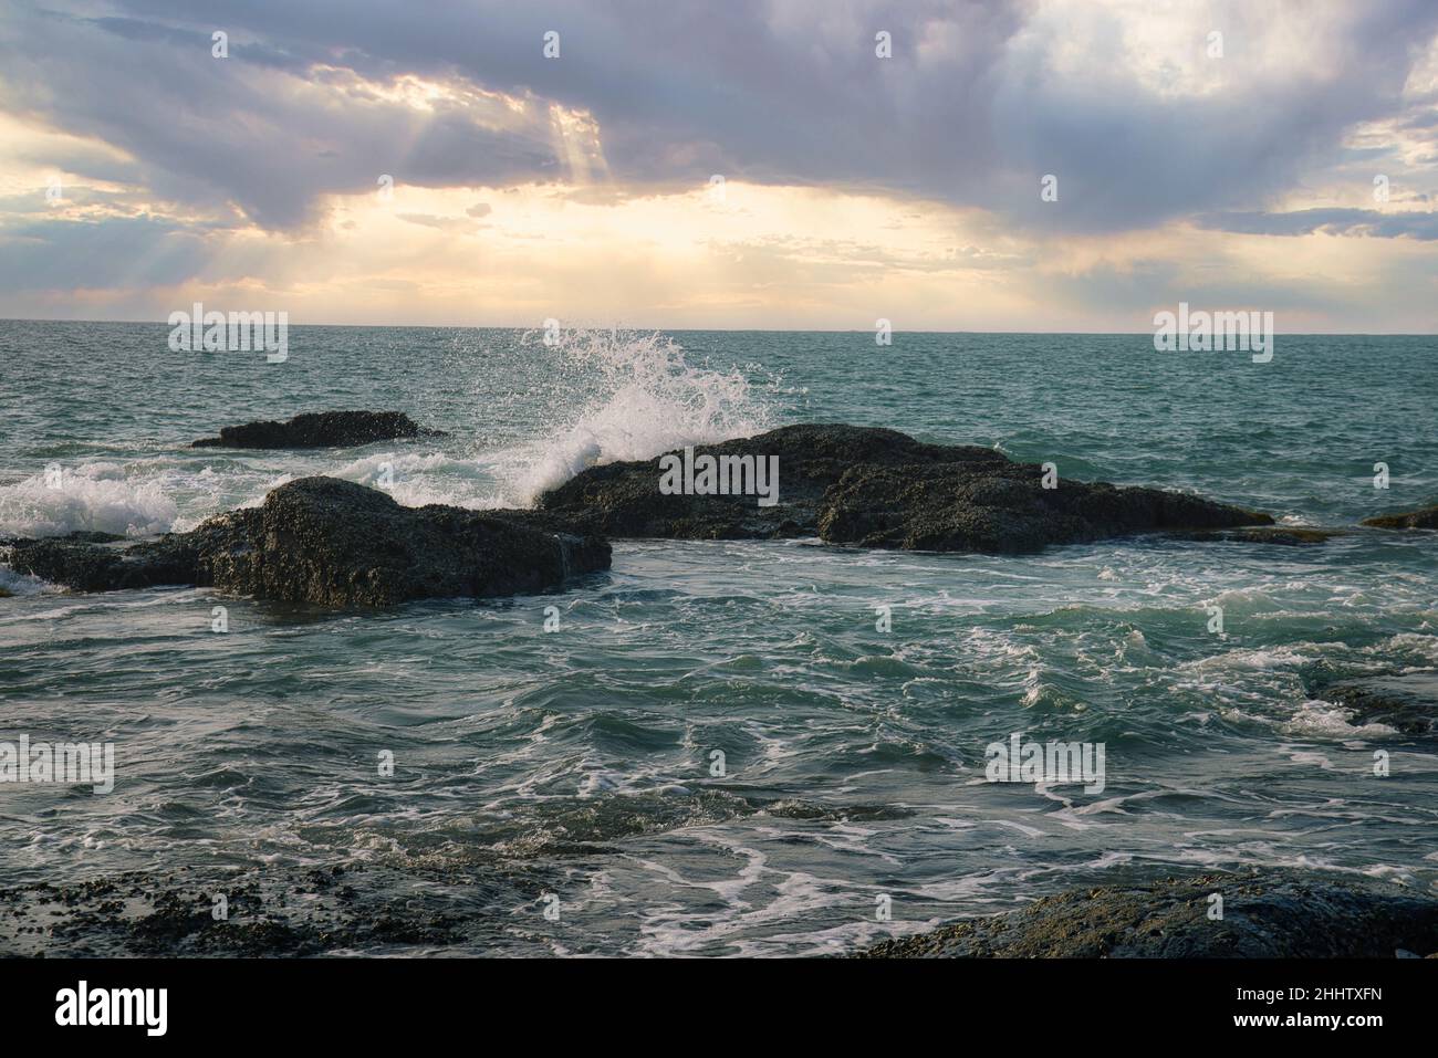
[[[1432,338],[1280,335],[1252,364],[1148,335],[578,332],[551,348],[313,326],[278,365],[165,338],[0,322],[0,535],[188,529],[319,473],[393,479],[403,503],[513,506],[597,460],[802,421],[994,446],[1290,525],[1438,497]],[[347,407],[450,434],[186,447]],[[850,952],[1172,870],[1438,884],[1432,742],[1355,726],[1309,690],[1438,667],[1432,533],[1017,558],[621,540],[613,571],[561,592],[385,612],[68,595],[4,568],[0,586],[0,740],[116,755],[108,795],[0,786],[0,888],[139,874],[209,893],[259,874],[302,901],[315,868],[347,865],[395,906],[453,911],[449,952],[723,956]],[[989,783],[985,746],[1014,732],[1103,743],[1106,788]]]

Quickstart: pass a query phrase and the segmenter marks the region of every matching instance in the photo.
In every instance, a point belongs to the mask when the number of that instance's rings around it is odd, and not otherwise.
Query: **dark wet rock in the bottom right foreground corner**
[[[1208,917],[1209,894],[1224,898]],[[860,957],[1385,959],[1438,944],[1438,898],[1370,880],[1248,871],[1070,890],[886,940]]]

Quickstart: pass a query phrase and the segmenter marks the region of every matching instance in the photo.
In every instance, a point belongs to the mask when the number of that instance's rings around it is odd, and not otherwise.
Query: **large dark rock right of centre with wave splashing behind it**
[[[925,444],[893,430],[791,426],[700,446],[699,456],[778,457],[779,503],[659,492],[659,460],[584,470],[539,500],[605,536],[772,539],[913,551],[1034,551],[1160,529],[1271,525],[1227,503],[1160,489],[1060,480],[975,446]]]

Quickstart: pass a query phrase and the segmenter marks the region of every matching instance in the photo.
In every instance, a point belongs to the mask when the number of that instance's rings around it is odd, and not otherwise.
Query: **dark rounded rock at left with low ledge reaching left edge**
[[[352,482],[305,477],[259,507],[211,518],[188,533],[125,548],[22,540],[12,566],[76,591],[161,584],[214,586],[321,605],[512,595],[608,569],[603,539],[539,528],[526,512],[403,507]]]

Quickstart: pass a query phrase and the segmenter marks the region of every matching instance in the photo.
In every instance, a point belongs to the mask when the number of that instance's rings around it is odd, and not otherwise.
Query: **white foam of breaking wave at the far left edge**
[[[58,467],[0,486],[0,535],[63,536],[75,530],[150,536],[178,509],[160,482],[129,482],[114,463]]]

